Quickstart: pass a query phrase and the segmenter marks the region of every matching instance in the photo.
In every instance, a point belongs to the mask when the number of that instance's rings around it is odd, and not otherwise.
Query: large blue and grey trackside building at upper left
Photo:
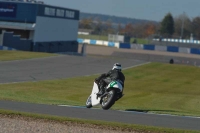
[[[77,52],[79,14],[42,1],[1,1],[0,45],[25,51]]]

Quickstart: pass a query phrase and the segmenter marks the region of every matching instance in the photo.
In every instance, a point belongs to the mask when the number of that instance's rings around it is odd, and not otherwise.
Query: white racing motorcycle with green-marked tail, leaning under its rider
[[[97,96],[98,92],[99,87],[94,82],[92,93],[86,101],[86,107],[92,108],[101,104],[102,109],[108,110],[123,96],[123,86],[120,81],[112,81],[105,87],[104,94]]]

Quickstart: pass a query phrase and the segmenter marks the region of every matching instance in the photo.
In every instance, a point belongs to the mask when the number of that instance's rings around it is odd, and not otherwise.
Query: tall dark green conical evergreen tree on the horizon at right
[[[171,37],[174,33],[174,19],[168,13],[161,22],[160,32],[163,36]]]

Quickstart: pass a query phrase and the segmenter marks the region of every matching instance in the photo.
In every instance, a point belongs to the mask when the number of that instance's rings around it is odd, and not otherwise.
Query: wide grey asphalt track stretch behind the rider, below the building
[[[114,63],[123,68],[145,61],[124,58],[61,55],[31,60],[0,62],[0,83],[71,78],[108,72]]]

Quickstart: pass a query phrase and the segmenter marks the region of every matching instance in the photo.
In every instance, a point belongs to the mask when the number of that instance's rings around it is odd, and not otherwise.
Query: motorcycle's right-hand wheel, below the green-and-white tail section
[[[101,100],[101,107],[104,110],[108,110],[113,104],[115,104],[116,100],[116,91],[110,90],[106,96],[104,96]]]

